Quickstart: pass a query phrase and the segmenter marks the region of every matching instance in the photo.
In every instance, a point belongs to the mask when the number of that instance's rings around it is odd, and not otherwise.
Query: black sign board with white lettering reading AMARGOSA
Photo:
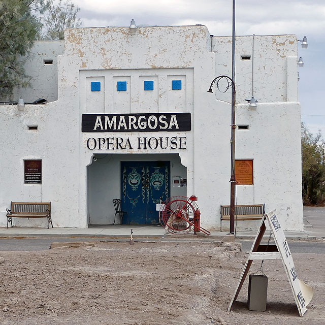
[[[179,132],[191,130],[191,113],[82,114],[82,132]]]

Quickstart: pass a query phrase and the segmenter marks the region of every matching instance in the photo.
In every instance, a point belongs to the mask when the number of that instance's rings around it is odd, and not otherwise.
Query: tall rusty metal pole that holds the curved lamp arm
[[[235,233],[235,133],[236,133],[236,119],[235,119],[235,105],[236,105],[236,90],[235,90],[235,0],[233,0],[233,42],[232,42],[232,135],[231,135],[231,176],[230,176],[230,234]]]

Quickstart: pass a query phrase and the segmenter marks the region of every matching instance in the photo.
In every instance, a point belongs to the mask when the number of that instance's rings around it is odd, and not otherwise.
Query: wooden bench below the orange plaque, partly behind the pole
[[[235,221],[258,220],[265,214],[265,204],[236,205]],[[220,205],[220,231],[222,220],[230,220],[230,205]]]

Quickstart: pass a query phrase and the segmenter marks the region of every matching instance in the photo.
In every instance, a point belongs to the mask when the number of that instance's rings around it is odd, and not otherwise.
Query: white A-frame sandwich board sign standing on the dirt
[[[261,241],[266,231],[266,222],[273,234],[276,245],[262,245]],[[291,290],[298,307],[299,315],[302,317],[306,312],[306,306],[311,301],[314,291],[313,288],[299,280],[297,277],[293,256],[291,255],[288,243],[286,241],[283,229],[276,215],[276,210],[273,210],[264,215],[259,230],[253,242],[252,248],[249,252],[247,262],[245,264],[243,273],[239,279],[237,288],[235,290],[233,299],[228,307],[228,312],[232,308],[234,301],[236,301],[239,291],[245,281],[249,268],[254,259],[276,259],[281,258],[285,273],[288,277]]]

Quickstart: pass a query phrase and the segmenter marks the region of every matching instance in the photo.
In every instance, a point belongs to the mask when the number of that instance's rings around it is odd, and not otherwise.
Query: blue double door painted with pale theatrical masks
[[[169,198],[169,161],[121,161],[123,224],[157,224],[156,204]]]

